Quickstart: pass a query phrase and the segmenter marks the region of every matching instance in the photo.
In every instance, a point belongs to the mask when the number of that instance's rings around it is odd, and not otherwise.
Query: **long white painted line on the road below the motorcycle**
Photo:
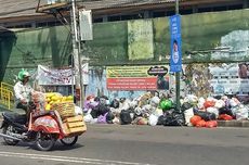
[[[42,154],[28,154],[28,153],[2,152],[2,151],[0,151],[0,156],[43,160],[43,161],[56,161],[56,162],[69,162],[69,163],[79,163],[79,164],[95,164],[95,165],[120,165],[120,164],[123,164],[123,165],[153,165],[153,164],[134,163],[134,162],[55,156],[55,155],[42,155]]]

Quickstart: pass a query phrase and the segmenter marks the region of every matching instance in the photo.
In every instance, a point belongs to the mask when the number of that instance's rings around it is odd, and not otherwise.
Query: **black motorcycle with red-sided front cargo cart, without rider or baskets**
[[[83,134],[67,132],[57,111],[39,112],[34,106],[30,110],[29,117],[12,112],[2,113],[0,137],[6,144],[16,145],[19,141],[34,142],[38,150],[49,151],[57,140],[64,145],[74,145]]]

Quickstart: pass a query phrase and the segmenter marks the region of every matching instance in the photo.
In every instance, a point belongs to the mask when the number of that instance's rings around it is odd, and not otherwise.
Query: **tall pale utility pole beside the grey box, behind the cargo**
[[[79,54],[80,49],[80,41],[79,41],[79,34],[78,34],[78,24],[77,24],[77,16],[76,16],[76,1],[71,0],[71,10],[70,10],[70,17],[71,17],[71,42],[73,42],[73,58],[75,64],[75,85],[76,85],[76,92],[80,92],[80,101],[77,101],[77,105],[82,109],[82,68],[81,68],[81,59]]]

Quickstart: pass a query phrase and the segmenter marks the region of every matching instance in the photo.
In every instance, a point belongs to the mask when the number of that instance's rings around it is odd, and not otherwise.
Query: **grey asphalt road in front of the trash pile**
[[[248,128],[89,125],[74,148],[58,142],[50,152],[0,139],[0,164],[246,165],[248,151]]]

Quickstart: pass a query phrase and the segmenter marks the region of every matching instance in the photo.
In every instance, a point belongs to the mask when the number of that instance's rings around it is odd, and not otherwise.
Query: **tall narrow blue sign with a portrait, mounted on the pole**
[[[170,72],[182,71],[182,39],[181,39],[181,17],[170,16]]]

